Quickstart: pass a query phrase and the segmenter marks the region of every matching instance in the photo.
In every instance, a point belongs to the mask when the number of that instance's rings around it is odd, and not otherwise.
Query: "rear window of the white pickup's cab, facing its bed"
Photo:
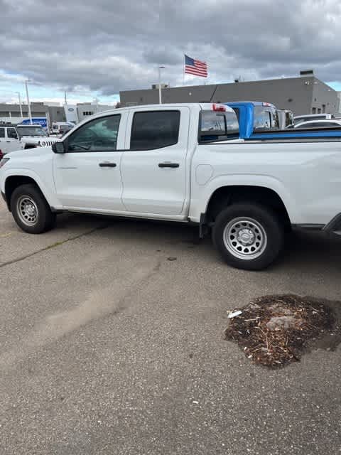
[[[199,141],[217,141],[239,137],[239,122],[235,112],[202,111]]]

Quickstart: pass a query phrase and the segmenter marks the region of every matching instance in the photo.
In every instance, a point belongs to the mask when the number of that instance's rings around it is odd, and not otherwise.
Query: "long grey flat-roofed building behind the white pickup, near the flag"
[[[120,92],[121,106],[158,104],[158,85],[150,90]],[[227,84],[185,85],[164,87],[162,102],[271,102],[278,109],[290,109],[294,115],[335,114],[339,112],[338,92],[313,75],[312,70],[301,71],[300,77]]]

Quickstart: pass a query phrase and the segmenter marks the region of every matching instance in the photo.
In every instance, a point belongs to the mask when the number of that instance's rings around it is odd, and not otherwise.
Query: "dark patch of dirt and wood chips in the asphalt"
[[[237,341],[252,362],[278,368],[309,349],[335,349],[341,342],[340,316],[341,302],[263,296],[229,313],[225,339]]]

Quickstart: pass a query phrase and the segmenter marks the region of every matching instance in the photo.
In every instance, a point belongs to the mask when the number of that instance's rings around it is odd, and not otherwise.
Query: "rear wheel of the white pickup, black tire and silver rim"
[[[237,269],[269,267],[281,252],[283,239],[283,225],[276,214],[256,203],[229,205],[217,215],[212,230],[213,244],[224,261]]]

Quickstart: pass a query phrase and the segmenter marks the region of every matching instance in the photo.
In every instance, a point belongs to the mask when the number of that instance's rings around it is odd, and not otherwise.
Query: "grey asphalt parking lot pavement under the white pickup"
[[[340,346],[267,370],[223,338],[256,296],[341,301],[341,242],[295,234],[244,272],[196,232],[60,215],[33,236],[0,202],[1,454],[341,454]]]

